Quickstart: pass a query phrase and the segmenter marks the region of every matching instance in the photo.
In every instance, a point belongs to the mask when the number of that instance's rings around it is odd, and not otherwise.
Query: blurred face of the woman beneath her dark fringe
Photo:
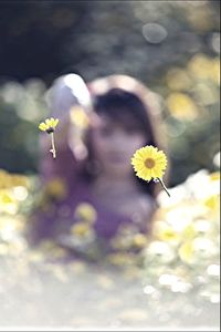
[[[102,172],[113,177],[125,177],[131,174],[133,154],[146,144],[147,137],[133,124],[124,126],[102,115],[92,129],[91,139],[93,156]]]

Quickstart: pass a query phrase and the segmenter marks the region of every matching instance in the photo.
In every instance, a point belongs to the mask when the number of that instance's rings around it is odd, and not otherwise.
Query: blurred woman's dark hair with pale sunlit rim
[[[114,82],[110,82],[112,84],[109,84],[109,89],[107,86],[105,91],[102,89],[97,89],[97,83],[99,87],[102,86],[102,84],[99,84],[102,80],[103,83],[106,83],[105,80],[112,81],[112,79],[115,80]],[[116,84],[119,83],[120,79],[128,79],[130,83],[130,80],[133,80],[134,90],[131,89],[129,91],[126,82],[123,86],[120,84]],[[136,90],[137,86],[139,87],[139,91]],[[117,75],[109,76],[107,79],[95,80],[88,85],[88,87],[93,95],[93,108],[96,114],[104,114],[113,122],[119,123],[123,127],[127,128],[129,126],[129,128],[139,129],[147,137],[146,145],[154,145],[158,148],[162,148],[159,142],[161,135],[158,133],[160,123],[158,118],[159,112],[154,116],[154,111],[150,108],[150,105],[147,104],[147,92],[149,91],[141,83],[128,76]],[[144,95],[144,93],[146,94]],[[147,97],[147,102],[145,97]],[[149,98],[149,103],[151,103],[151,98]],[[93,160],[93,151],[90,142],[91,139],[88,133],[88,160]],[[154,181],[150,181],[147,185],[147,183],[139,179],[138,177],[136,177],[136,180],[144,191],[148,193],[151,196],[156,195],[156,186]]]

